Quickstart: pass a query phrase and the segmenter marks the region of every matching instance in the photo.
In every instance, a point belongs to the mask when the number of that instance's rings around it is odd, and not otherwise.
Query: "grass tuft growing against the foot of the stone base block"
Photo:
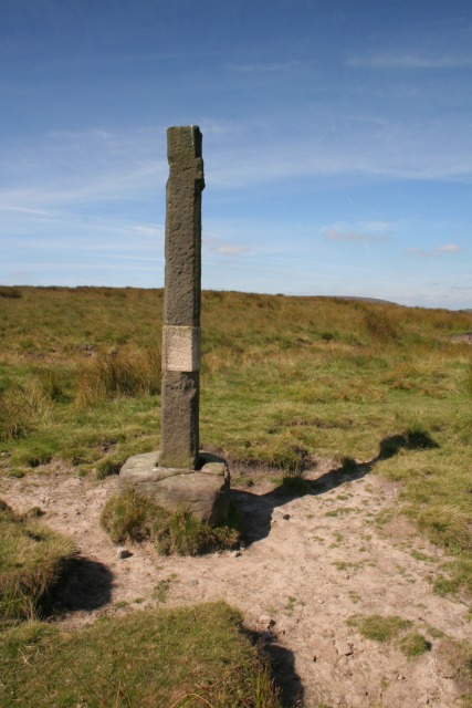
[[[231,549],[240,538],[235,508],[230,509],[225,524],[210,527],[186,509],[171,513],[134,490],[111,497],[101,522],[114,543],[150,541],[164,555]]]

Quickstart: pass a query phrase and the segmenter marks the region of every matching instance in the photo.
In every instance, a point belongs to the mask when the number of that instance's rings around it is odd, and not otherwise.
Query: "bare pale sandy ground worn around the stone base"
[[[460,706],[466,686],[431,626],[471,642],[470,608],[433,593],[428,577],[444,562],[438,549],[401,517],[376,523],[398,503],[398,489],[368,470],[342,473],[318,460],[308,473],[318,480],[314,493],[298,498],[281,497],[263,480],[233,489],[245,548],[200,558],[162,558],[148,545],[118,558],[98,522],[116,477],[98,482],[50,466],[22,479],[1,477],[0,497],[21,512],[40,507],[50,527],[75,541],[75,604],[63,623],[225,600],[265,643],[287,706]],[[368,641],[349,626],[356,614],[410,620],[431,650],[407,659],[395,642]]]

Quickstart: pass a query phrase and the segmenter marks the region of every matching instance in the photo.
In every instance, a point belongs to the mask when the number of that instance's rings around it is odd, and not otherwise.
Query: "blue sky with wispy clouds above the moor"
[[[0,0],[0,282],[161,287],[166,128],[203,287],[472,308],[470,0]]]

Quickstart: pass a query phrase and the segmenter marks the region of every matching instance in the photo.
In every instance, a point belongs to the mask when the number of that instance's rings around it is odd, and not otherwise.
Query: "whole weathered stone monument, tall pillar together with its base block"
[[[204,179],[198,126],[168,128],[167,157],[160,451],[130,457],[119,472],[119,487],[217,524],[228,514],[230,476],[223,459],[199,450]]]

